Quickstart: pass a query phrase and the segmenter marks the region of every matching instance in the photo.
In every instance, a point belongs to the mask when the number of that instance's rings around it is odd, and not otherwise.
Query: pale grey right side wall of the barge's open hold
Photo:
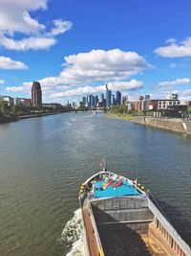
[[[153,212],[156,221],[159,221],[163,225],[163,227],[168,230],[168,234],[173,238],[176,244],[179,244],[182,251],[186,255],[191,255],[191,248],[180,238],[179,233],[175,230],[173,225],[169,221],[167,221],[167,219],[161,214],[158,207],[150,198],[148,198],[148,206],[149,209]]]

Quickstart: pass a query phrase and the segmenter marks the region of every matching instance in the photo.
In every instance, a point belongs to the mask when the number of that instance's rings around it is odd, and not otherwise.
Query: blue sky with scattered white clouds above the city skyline
[[[191,100],[190,0],[0,0],[0,95]]]

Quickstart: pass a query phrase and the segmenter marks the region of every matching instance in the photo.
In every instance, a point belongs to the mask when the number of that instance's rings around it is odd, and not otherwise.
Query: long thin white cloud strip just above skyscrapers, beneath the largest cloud
[[[111,90],[136,90],[143,86],[142,81],[131,80],[131,81],[120,81],[120,82],[109,82],[108,87]],[[76,87],[71,90],[66,90],[64,92],[55,92],[51,94],[51,98],[63,98],[63,97],[74,97],[87,94],[95,94],[105,91],[105,84],[99,86],[84,86]]]

